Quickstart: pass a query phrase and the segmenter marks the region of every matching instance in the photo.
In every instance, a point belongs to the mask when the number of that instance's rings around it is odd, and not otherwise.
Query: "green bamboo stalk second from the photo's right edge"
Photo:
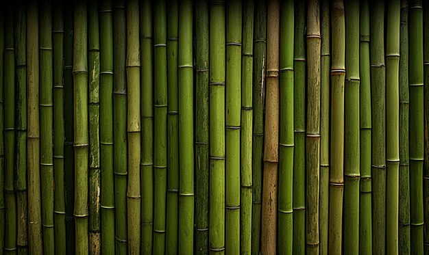
[[[421,1],[410,1],[409,23],[409,153],[410,153],[410,252],[424,252],[424,70],[423,8]]]

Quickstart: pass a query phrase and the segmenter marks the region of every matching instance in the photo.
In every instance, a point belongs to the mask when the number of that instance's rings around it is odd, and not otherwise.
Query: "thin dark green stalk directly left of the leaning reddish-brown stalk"
[[[252,124],[252,254],[260,251],[262,152],[264,144],[265,70],[267,65],[267,1],[255,2]]]

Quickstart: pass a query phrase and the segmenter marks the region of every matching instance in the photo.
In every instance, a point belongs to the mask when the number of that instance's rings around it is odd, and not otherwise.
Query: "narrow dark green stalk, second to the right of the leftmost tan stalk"
[[[66,200],[64,193],[64,14],[62,2],[53,6],[53,178],[55,250],[66,254]]]

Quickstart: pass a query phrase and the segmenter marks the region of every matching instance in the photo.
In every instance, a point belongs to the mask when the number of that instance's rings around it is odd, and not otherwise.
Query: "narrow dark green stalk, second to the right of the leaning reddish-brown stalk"
[[[293,254],[305,252],[306,1],[295,1],[293,49]]]

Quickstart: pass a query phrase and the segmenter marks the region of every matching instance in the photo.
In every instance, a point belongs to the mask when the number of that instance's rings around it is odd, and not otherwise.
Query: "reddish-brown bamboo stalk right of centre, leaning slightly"
[[[279,26],[280,1],[267,6],[267,103],[265,105],[264,174],[262,184],[262,254],[273,254],[277,235],[277,182],[279,133]]]

